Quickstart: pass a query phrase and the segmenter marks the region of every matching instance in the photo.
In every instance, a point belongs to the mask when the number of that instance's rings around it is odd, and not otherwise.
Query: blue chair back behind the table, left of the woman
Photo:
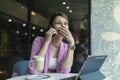
[[[29,60],[16,62],[13,66],[12,77],[24,75],[28,65]]]

